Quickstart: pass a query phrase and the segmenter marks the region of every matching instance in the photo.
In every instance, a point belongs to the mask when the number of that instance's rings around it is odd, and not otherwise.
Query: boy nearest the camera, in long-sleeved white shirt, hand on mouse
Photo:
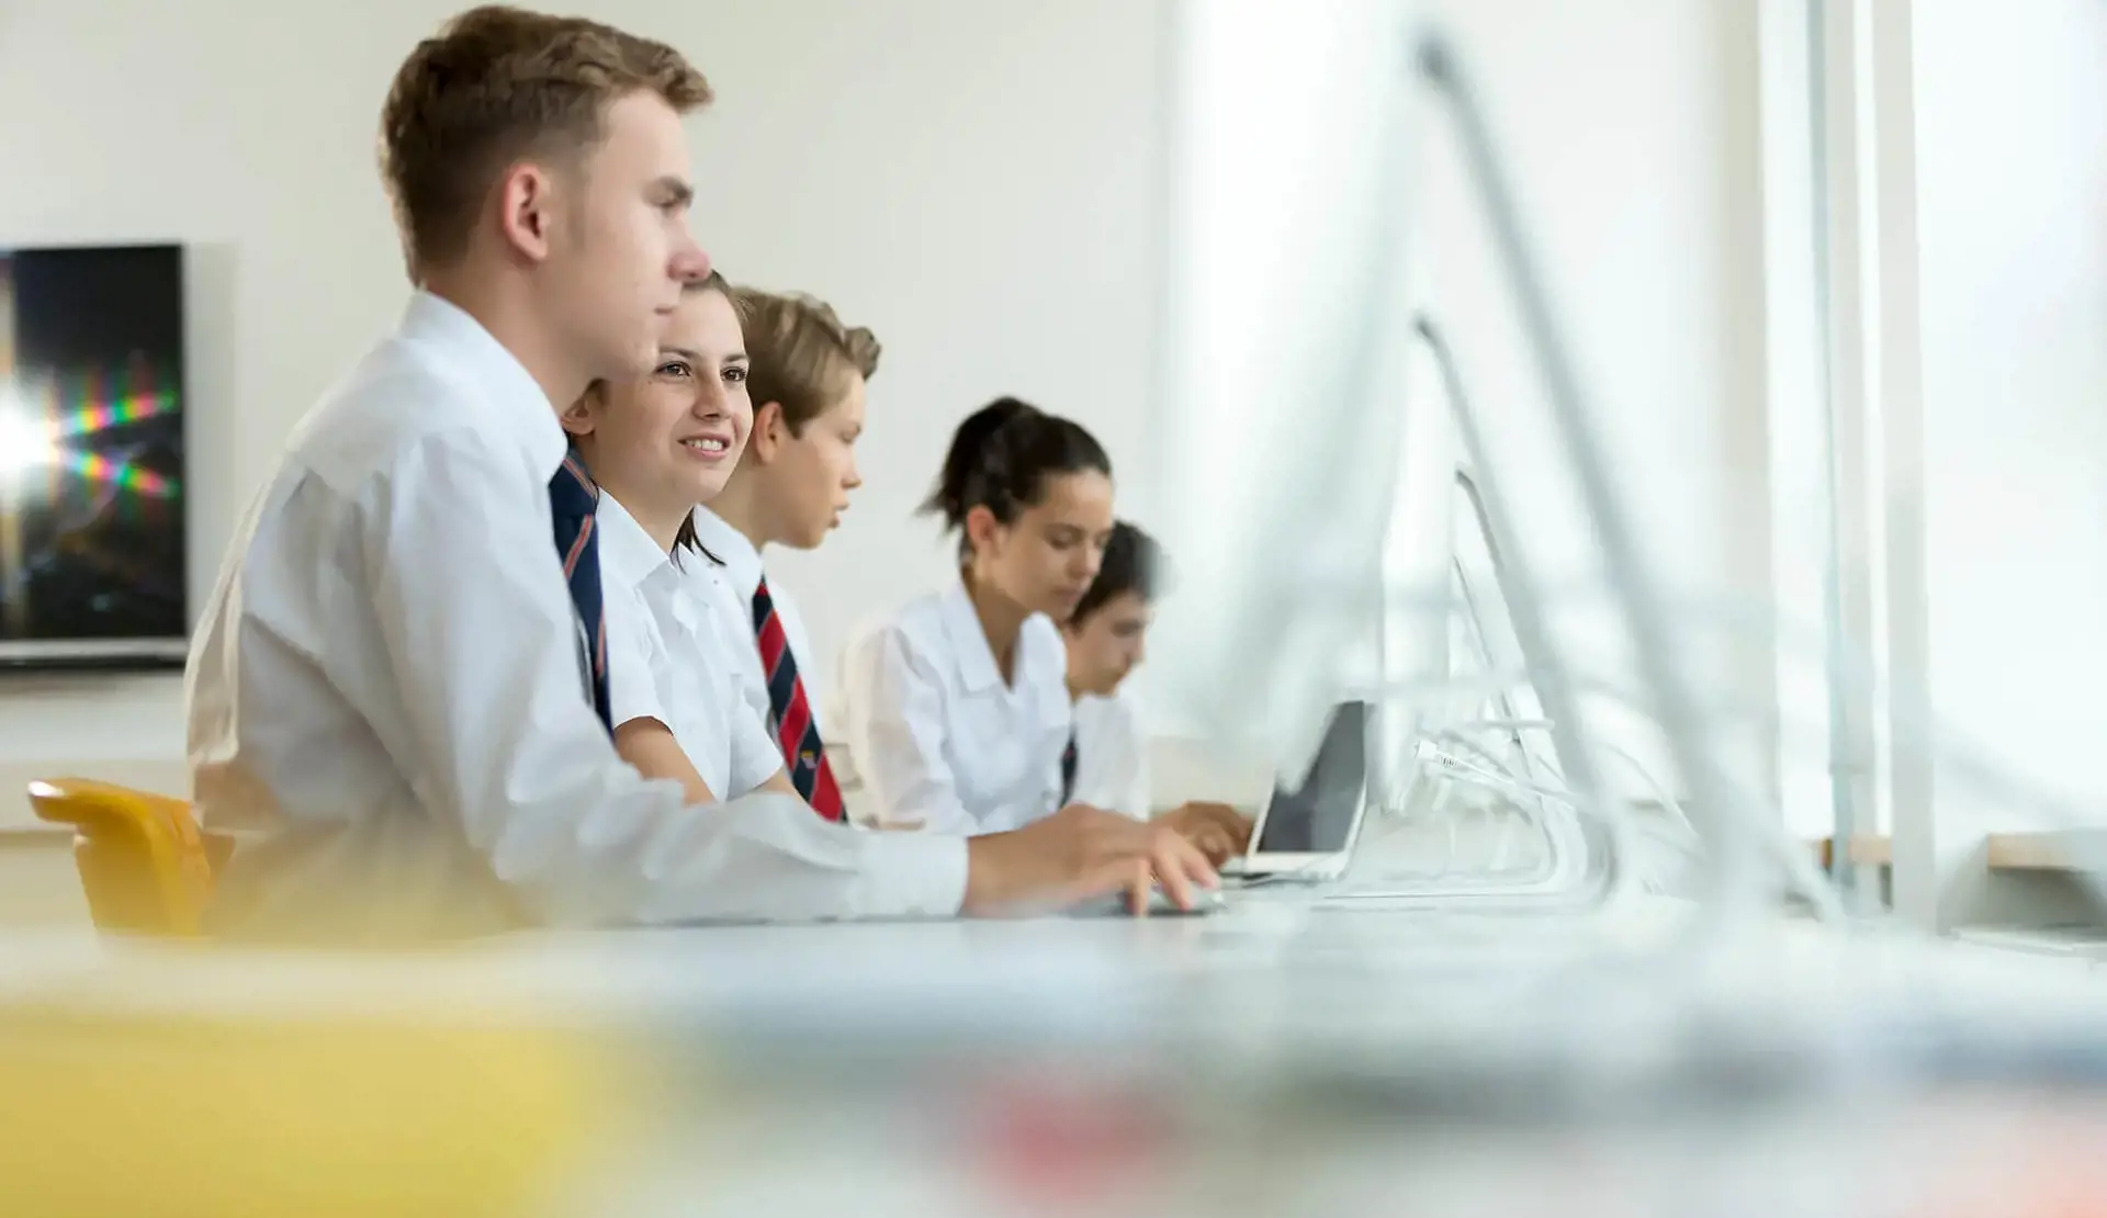
[[[952,915],[1212,883],[1174,832],[1110,813],[877,834],[771,790],[695,809],[617,757],[584,628],[598,582],[571,579],[594,516],[558,514],[590,483],[556,402],[657,367],[708,272],[681,126],[708,95],[670,46],[504,6],[396,74],[381,160],[419,291],[295,430],[185,672],[204,822],[253,830],[219,929]]]

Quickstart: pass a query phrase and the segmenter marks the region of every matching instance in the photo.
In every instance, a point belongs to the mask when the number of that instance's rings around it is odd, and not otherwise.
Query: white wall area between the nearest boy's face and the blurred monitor
[[[634,6],[643,8],[643,6]],[[672,6],[666,6],[672,8]],[[1148,518],[1161,259],[1157,4],[687,4],[721,103],[697,232],[727,274],[815,291],[885,343],[864,489],[824,550],[780,554],[813,645],[950,569],[912,512],[950,428],[999,394],[1081,419]],[[721,51],[718,51],[721,48]]]

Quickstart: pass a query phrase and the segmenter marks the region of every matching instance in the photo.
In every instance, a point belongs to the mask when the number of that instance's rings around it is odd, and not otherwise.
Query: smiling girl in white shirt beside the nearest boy
[[[615,752],[645,778],[672,778],[689,803],[756,788],[796,797],[763,714],[731,670],[706,598],[712,556],[689,516],[714,497],[746,447],[752,402],[731,289],[691,284],[636,381],[594,381],[563,428],[600,487],[600,584]]]

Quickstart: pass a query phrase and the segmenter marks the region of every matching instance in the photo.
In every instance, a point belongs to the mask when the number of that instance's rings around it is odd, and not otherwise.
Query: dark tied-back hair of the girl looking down
[[[1112,476],[1112,459],[1083,424],[1018,398],[995,398],[952,432],[944,470],[921,510],[959,531],[963,554],[967,512],[986,508],[1009,525],[1045,497],[1047,478],[1085,470]]]

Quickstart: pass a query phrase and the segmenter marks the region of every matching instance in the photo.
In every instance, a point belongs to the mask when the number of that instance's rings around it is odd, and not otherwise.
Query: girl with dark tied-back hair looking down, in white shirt
[[[927,512],[959,577],[868,622],[841,662],[843,738],[893,824],[997,832],[1064,805],[1068,617],[1112,533],[1112,461],[1079,424],[995,400],[950,440]]]

